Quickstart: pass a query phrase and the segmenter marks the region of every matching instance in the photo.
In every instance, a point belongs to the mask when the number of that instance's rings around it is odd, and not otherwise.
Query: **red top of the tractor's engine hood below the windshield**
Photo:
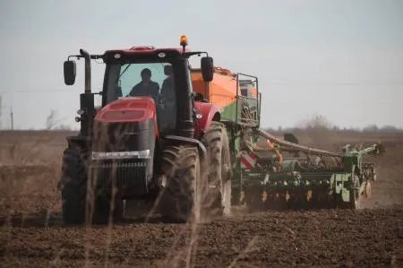
[[[99,122],[141,122],[155,118],[154,99],[150,97],[128,97],[116,99],[99,108],[95,120]]]

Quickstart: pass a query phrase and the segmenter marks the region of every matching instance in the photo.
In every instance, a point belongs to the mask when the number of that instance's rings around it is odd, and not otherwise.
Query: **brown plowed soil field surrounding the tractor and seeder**
[[[385,144],[386,154],[371,159],[379,177],[363,210],[246,214],[235,208],[233,216],[195,232],[159,219],[64,226],[56,184],[67,134],[0,133],[4,267],[403,267],[402,134],[335,134],[328,141],[331,148]]]

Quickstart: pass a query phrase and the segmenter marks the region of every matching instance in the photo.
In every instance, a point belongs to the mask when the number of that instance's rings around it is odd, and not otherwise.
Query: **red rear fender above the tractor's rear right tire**
[[[195,102],[194,109],[198,134],[205,132],[210,127],[211,121],[219,121],[221,118],[219,108],[212,103]]]

